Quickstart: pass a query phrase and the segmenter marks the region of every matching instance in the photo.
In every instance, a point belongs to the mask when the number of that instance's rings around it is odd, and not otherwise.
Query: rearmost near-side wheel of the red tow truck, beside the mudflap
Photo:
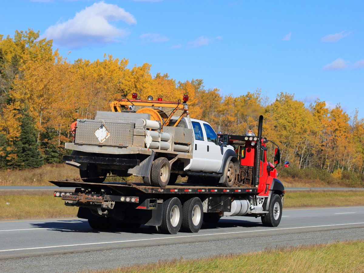
[[[182,224],[182,204],[177,197],[163,202],[162,225],[158,227],[162,233],[176,234]]]

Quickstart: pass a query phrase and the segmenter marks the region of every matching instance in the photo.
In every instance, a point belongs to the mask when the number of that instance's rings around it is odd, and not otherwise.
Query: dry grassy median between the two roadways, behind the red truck
[[[284,209],[364,206],[364,191],[287,191]],[[77,208],[64,205],[53,191],[0,191],[0,220],[76,217]]]

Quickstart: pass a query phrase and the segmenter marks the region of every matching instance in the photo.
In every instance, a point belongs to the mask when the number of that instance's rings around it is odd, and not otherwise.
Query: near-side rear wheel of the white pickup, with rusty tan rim
[[[150,171],[152,185],[155,187],[165,187],[168,185],[171,174],[171,165],[165,157],[155,159]]]

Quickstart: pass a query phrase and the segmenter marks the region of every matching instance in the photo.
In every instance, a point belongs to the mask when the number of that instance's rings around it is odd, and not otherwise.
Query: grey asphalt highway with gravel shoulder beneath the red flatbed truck
[[[181,257],[209,257],[364,239],[364,207],[283,210],[278,227],[260,218],[223,217],[198,233],[138,230],[98,232],[77,218],[0,221],[1,272],[77,272]]]

